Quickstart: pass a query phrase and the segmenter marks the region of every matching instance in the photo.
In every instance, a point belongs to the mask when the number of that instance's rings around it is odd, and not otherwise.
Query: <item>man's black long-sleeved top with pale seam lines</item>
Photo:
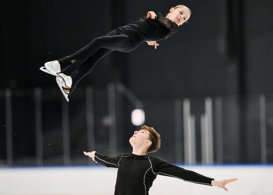
[[[115,195],[148,195],[157,175],[208,186],[213,180],[154,156],[127,153],[111,157],[96,152],[95,160],[106,167],[118,168]]]

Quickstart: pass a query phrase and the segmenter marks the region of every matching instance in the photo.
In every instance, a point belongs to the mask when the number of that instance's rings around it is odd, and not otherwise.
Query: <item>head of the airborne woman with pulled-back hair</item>
[[[169,19],[176,23],[178,26],[186,22],[190,16],[191,12],[187,7],[171,8]]]

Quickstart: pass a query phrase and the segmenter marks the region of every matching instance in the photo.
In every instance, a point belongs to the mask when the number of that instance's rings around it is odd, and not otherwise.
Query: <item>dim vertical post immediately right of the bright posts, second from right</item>
[[[215,99],[215,132],[216,132],[216,161],[223,163],[223,119],[222,119],[222,99]]]

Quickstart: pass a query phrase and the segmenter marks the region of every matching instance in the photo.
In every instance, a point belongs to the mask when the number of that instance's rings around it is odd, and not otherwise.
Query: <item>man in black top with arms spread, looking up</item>
[[[149,189],[157,175],[178,178],[187,182],[217,186],[227,191],[226,184],[237,178],[214,181],[196,172],[183,169],[148,153],[156,152],[161,145],[160,135],[151,127],[142,126],[129,139],[132,153],[119,156],[102,155],[96,151],[83,152],[106,167],[118,168],[115,195],[148,195]]]

